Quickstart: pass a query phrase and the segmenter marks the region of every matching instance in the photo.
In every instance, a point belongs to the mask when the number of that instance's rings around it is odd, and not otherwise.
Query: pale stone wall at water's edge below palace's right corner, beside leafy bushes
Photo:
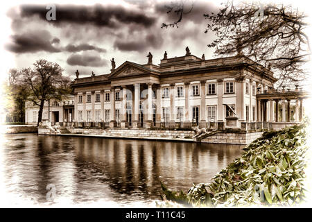
[[[263,132],[220,132],[212,135],[211,137],[207,137],[202,139],[202,143],[214,143],[214,144],[249,144],[250,142],[254,141],[261,137]]]

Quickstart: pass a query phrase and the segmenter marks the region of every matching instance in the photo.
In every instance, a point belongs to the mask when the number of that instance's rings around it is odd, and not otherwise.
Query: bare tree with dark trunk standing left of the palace
[[[62,76],[63,69],[55,62],[37,60],[34,68],[19,71],[19,80],[29,88],[29,101],[39,106],[37,124],[42,121],[44,102],[50,99],[61,101],[69,94],[69,78]]]

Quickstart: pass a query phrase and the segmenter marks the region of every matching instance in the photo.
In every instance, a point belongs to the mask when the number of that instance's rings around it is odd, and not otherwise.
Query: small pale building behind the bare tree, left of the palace
[[[50,122],[71,122],[73,121],[73,95],[67,95],[64,101],[50,101],[44,103],[44,110],[42,113],[42,121]],[[50,114],[49,114],[50,110]],[[27,124],[37,124],[39,107],[28,101],[25,105],[25,122]]]

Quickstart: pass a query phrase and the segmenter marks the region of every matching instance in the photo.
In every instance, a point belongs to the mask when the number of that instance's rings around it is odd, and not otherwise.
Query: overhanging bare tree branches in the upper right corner
[[[306,78],[304,64],[310,59],[311,49],[304,33],[309,25],[304,12],[283,4],[228,1],[218,12],[204,17],[208,20],[205,33],[216,35],[216,40],[207,45],[216,49],[216,55],[250,58],[254,65],[275,73],[277,87]]]

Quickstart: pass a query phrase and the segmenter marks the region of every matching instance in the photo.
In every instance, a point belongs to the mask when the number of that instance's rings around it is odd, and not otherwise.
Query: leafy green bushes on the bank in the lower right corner
[[[304,124],[263,133],[209,184],[193,185],[187,193],[162,185],[164,199],[188,207],[295,205],[304,200],[307,148]]]

